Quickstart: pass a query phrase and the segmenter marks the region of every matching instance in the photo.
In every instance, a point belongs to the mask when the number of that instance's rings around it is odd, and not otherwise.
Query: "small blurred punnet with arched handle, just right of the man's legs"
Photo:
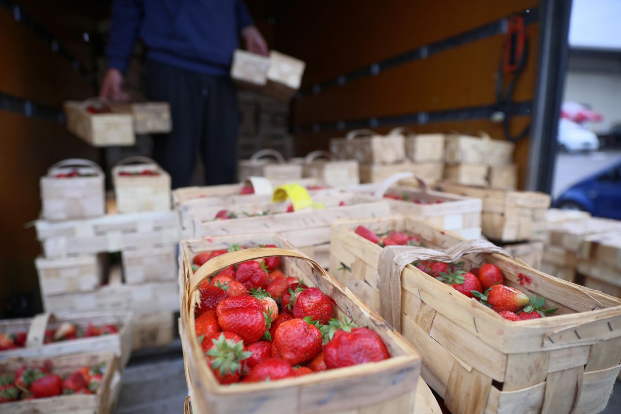
[[[276,162],[265,159],[270,156]],[[239,179],[242,181],[255,176],[281,180],[302,178],[302,165],[286,162],[283,154],[273,149],[263,149],[255,152],[248,160],[240,160],[238,170]]]

